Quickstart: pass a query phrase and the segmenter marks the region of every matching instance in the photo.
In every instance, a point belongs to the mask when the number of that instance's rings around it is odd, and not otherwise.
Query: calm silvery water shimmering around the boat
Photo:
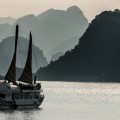
[[[36,110],[1,111],[0,120],[118,120],[120,84],[42,82],[45,100]]]

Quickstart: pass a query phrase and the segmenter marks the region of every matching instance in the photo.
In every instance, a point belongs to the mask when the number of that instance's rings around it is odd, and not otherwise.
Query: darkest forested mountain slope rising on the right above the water
[[[120,82],[120,11],[97,15],[79,44],[39,73],[42,80]]]

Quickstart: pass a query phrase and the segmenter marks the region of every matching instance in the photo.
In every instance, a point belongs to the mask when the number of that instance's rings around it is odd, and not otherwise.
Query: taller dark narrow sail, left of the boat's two
[[[5,80],[8,80],[9,82],[16,83],[16,52],[17,52],[17,40],[18,40],[18,32],[19,32],[19,26],[16,25],[16,34],[15,34],[15,51],[13,55],[13,59],[11,62],[11,65],[8,69],[8,72],[5,75]]]

